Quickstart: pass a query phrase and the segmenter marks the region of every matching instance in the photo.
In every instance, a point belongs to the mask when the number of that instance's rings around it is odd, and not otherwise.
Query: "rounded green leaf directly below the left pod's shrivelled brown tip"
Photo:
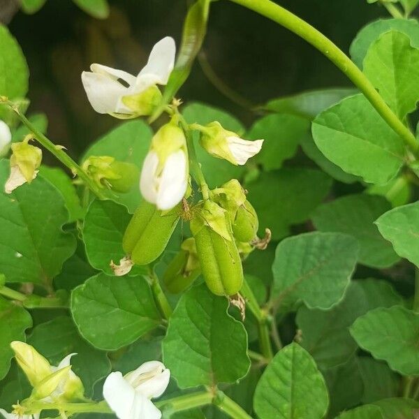
[[[98,274],[73,290],[71,312],[84,339],[105,351],[131,344],[160,324],[143,277]]]

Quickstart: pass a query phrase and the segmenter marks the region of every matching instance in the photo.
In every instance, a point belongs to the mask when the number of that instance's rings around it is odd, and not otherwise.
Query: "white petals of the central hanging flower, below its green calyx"
[[[184,197],[188,187],[188,161],[183,149],[170,154],[159,170],[159,156],[150,151],[140,177],[140,191],[159,210],[171,210]]]

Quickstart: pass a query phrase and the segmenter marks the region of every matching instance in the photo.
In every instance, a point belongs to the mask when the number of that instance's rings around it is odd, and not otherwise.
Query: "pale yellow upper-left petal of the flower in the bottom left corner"
[[[35,348],[21,341],[13,341],[10,347],[15,353],[17,365],[22,368],[29,383],[34,387],[51,374],[51,365]]]

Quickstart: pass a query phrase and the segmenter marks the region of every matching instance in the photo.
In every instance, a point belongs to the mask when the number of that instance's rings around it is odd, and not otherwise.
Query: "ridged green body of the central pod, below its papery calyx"
[[[231,234],[228,214],[226,223]],[[226,240],[216,233],[200,217],[191,221],[191,231],[201,271],[210,291],[216,295],[234,295],[243,284],[243,268],[240,254],[233,239]]]

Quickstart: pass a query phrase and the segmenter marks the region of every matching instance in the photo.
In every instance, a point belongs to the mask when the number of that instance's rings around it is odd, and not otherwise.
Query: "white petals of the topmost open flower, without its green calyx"
[[[156,84],[167,84],[175,65],[175,53],[175,41],[166,36],[154,45],[146,66],[137,77],[101,64],[91,64],[91,72],[82,72],[83,87],[91,106],[101,114],[138,115],[124,104],[124,96],[141,94]]]

